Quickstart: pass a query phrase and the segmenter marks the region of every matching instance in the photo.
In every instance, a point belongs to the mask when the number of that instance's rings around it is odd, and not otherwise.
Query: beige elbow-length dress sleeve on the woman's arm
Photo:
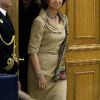
[[[44,33],[44,23],[42,19],[35,19],[31,28],[28,54],[38,53]]]

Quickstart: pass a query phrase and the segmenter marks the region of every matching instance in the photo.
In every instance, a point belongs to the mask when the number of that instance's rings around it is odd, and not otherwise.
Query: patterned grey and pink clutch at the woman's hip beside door
[[[57,67],[53,80],[54,82],[57,82],[58,80],[66,80],[66,69],[64,66]]]

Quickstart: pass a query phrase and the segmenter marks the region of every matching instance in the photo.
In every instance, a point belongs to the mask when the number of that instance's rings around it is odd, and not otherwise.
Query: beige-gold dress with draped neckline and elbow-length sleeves
[[[29,58],[28,93],[35,100],[66,100],[66,80],[58,82],[52,80],[57,67],[58,50],[66,34],[66,17],[61,13],[59,16],[62,23],[51,25],[47,20],[46,12],[42,10],[32,25],[28,54],[38,54],[42,73],[48,82],[45,89],[38,88],[38,80]]]

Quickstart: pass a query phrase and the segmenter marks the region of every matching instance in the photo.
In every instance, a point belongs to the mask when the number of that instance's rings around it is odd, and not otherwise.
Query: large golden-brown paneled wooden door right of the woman
[[[100,0],[67,0],[67,100],[100,100]]]

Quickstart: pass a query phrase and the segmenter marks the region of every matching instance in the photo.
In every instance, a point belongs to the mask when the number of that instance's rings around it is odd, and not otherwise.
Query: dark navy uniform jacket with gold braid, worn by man
[[[12,36],[14,35],[14,27],[9,19],[9,16],[4,16],[0,12],[0,34],[5,42],[10,42]],[[7,66],[7,60],[11,56],[13,52],[13,44],[10,46],[5,45],[0,39],[0,73],[15,73],[18,69],[17,63],[14,61],[14,66],[9,71],[5,70],[4,68]]]

